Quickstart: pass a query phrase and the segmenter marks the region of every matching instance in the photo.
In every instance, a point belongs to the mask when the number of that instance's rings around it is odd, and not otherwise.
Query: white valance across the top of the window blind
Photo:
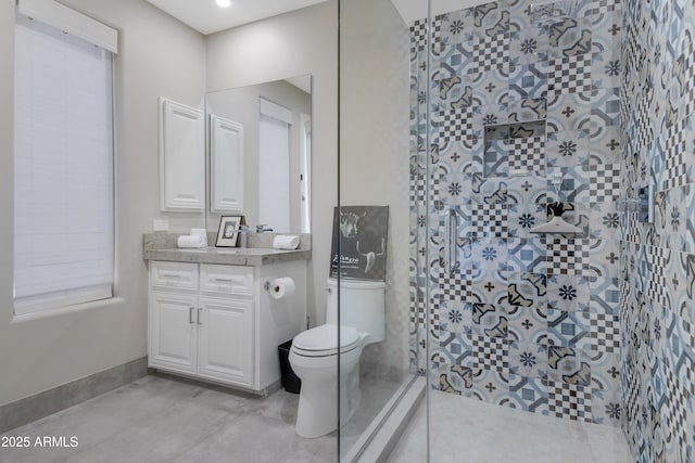
[[[20,13],[118,53],[118,31],[54,0],[17,0]]]

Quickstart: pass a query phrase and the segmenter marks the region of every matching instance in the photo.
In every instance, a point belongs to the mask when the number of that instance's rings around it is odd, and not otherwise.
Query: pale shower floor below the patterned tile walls
[[[630,463],[620,429],[432,391],[432,463]],[[427,461],[425,401],[389,463]]]

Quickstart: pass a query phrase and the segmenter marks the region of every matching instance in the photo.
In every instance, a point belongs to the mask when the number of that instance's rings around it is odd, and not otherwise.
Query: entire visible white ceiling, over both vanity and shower
[[[231,0],[217,7],[215,0],[148,0],[203,35],[311,7],[327,0]],[[391,0],[406,24],[427,16],[426,0]],[[485,3],[489,0],[431,0],[432,15]]]

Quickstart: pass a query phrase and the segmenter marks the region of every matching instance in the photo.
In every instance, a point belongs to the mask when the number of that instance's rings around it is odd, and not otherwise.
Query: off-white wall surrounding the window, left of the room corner
[[[205,41],[142,0],[64,0],[121,30],[115,60],[116,296],[80,312],[13,322],[14,2],[0,2],[0,404],[147,355],[142,233],[159,213],[157,97],[202,107]],[[168,215],[173,228],[202,222]],[[55,243],[60,246],[60,243]]]

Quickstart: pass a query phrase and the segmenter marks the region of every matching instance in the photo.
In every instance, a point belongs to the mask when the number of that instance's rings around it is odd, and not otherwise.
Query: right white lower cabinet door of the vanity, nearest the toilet
[[[253,385],[253,303],[201,298],[198,374],[226,383]]]

